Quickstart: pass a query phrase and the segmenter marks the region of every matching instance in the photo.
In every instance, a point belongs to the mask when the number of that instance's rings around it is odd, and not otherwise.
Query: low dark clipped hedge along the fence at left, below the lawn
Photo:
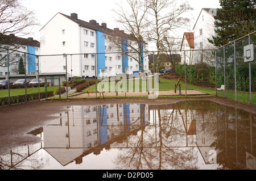
[[[53,91],[47,91],[47,96],[53,96]],[[39,98],[39,94],[27,94],[27,101],[35,100]],[[46,98],[46,92],[40,92],[40,99]],[[25,102],[26,95],[10,96],[10,103]],[[9,104],[9,98],[0,98],[0,105]]]

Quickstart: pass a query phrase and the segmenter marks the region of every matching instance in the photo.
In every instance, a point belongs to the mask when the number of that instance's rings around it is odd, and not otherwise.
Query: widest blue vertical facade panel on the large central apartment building
[[[96,31],[97,35],[97,74],[100,74],[100,69],[105,69],[105,33]]]

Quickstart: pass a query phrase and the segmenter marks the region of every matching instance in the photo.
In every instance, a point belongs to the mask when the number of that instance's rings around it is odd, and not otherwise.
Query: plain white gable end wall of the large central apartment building
[[[65,32],[63,33],[63,30]],[[65,57],[61,54],[79,53],[79,26],[75,22],[56,14],[40,30],[42,55],[60,54],[60,56],[42,56],[42,73],[65,73]],[[63,45],[65,42],[65,45]],[[68,73],[71,74],[71,56],[68,56]],[[72,56],[73,76],[80,76],[79,56]]]

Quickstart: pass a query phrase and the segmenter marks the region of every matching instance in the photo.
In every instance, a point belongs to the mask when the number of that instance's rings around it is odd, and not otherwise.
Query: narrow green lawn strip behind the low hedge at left
[[[52,86],[47,87],[47,91],[54,91],[54,94],[56,94],[56,90],[59,89],[59,86]],[[44,92],[45,88],[40,87],[40,92]],[[27,88],[27,94],[35,94],[38,93],[38,87],[34,88]],[[26,94],[26,89],[10,89],[10,96],[16,96],[16,95],[24,95]],[[1,89],[0,90],[0,98],[7,97],[8,96],[8,89]]]

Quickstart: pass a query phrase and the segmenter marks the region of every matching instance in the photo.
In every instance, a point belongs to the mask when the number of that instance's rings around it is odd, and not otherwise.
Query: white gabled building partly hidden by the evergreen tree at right
[[[208,39],[212,39],[212,36],[216,36],[214,22],[214,16],[216,16],[217,9],[203,8],[196,20],[193,27],[195,49],[215,49],[213,44],[209,43]],[[196,51],[194,54],[193,62],[198,63],[200,61],[210,61],[212,54],[209,51],[200,52]]]

